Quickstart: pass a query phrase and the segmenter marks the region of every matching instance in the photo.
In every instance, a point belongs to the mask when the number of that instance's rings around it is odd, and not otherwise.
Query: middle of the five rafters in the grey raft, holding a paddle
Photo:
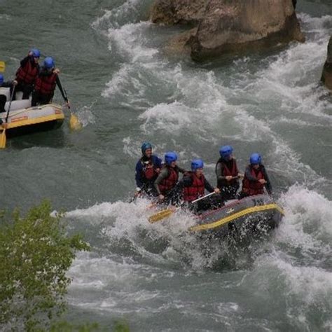
[[[223,205],[221,195],[216,195],[200,200],[196,203],[190,204],[193,200],[205,195],[205,189],[209,193],[220,193],[219,188],[213,188],[209,181],[205,179],[203,174],[204,162],[202,159],[195,159],[191,162],[191,172],[184,175],[181,180],[183,186],[182,194],[183,200],[193,212],[200,212]]]

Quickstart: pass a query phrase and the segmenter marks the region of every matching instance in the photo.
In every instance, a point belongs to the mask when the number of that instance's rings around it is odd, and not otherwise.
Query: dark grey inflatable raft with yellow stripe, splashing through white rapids
[[[269,195],[255,195],[232,200],[219,208],[197,216],[198,224],[189,228],[191,232],[228,235],[268,231],[279,225],[284,211]]]

